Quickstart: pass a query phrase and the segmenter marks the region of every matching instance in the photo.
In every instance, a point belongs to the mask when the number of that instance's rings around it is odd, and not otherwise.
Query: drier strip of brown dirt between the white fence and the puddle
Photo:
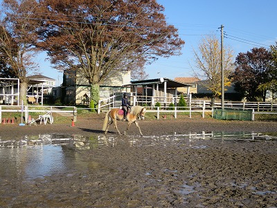
[[[0,124],[0,139],[24,137],[25,135],[38,135],[46,133],[67,133],[67,134],[101,134],[102,124],[105,114],[93,114],[89,116],[78,116],[77,121],[72,123],[71,119],[65,123],[54,123],[51,125],[25,125],[19,126],[18,121],[15,124]],[[75,125],[72,127],[72,124]],[[173,132],[188,133],[188,132],[277,132],[277,122],[274,121],[221,121],[211,117],[202,118],[200,115],[178,116],[177,119],[173,116],[167,116],[166,119],[161,116],[157,119],[145,119],[139,121],[143,135],[168,135]],[[127,123],[118,121],[120,132],[126,130]],[[110,126],[109,134],[116,134],[114,126]],[[138,134],[139,130],[136,125],[132,124],[129,129],[129,134]]]

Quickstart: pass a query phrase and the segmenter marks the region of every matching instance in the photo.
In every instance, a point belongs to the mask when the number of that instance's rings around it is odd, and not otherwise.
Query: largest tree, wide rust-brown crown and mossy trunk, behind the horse
[[[98,102],[99,85],[112,70],[179,55],[184,44],[155,0],[40,3],[39,46],[58,69],[74,70],[88,80],[91,103]]]

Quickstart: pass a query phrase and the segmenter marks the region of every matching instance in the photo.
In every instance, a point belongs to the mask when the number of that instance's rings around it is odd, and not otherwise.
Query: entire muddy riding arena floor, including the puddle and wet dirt
[[[277,207],[276,122],[104,116],[1,124],[0,207]]]

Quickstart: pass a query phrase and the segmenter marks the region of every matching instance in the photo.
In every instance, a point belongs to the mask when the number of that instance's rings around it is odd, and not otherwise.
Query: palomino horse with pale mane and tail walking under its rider
[[[123,114],[118,114],[119,111],[120,111],[119,108],[114,108],[114,109],[111,109],[109,112],[107,112],[103,123],[103,128],[102,128],[102,130],[105,131],[105,134],[107,134],[109,125],[111,125],[111,123],[114,123],[114,128],[116,128],[116,130],[118,131],[118,134],[121,135],[116,124],[116,120],[120,120],[120,121],[123,120]],[[139,127],[139,123],[136,121],[136,119],[138,118],[144,119],[145,111],[146,111],[146,108],[139,105],[135,105],[132,107],[131,112],[127,113],[127,116],[126,116],[126,119],[128,121],[127,130],[129,129],[129,126],[132,123],[135,123],[136,126],[139,128],[140,134],[143,135],[143,133],[141,132],[141,128]],[[109,121],[109,119],[111,120]]]

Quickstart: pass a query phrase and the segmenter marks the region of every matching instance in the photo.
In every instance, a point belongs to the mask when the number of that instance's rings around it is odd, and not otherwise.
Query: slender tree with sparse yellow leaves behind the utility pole
[[[198,45],[198,51],[194,51],[196,67],[195,76],[204,80],[203,85],[213,94],[212,103],[221,95],[221,48],[220,41],[215,35],[206,35]],[[234,71],[233,51],[230,47],[224,47],[224,86],[231,85],[230,75]]]

